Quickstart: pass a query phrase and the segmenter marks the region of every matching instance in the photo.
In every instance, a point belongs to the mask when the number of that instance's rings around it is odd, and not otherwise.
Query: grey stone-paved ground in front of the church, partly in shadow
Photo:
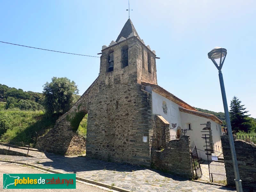
[[[0,148],[8,149],[3,145],[0,145]],[[23,149],[11,149],[27,154],[27,151]],[[235,191],[233,188],[190,181],[155,169],[130,164],[105,162],[87,157],[60,156],[40,151],[29,151],[29,155],[34,157],[0,155],[0,160],[29,163],[55,171],[76,173],[78,177],[109,185],[115,184],[117,187],[131,191]]]

